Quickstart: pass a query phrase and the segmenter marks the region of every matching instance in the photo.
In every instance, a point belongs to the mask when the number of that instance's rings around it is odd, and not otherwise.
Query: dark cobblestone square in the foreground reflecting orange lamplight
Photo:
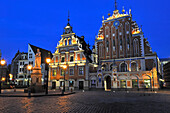
[[[170,94],[85,91],[68,96],[0,97],[3,113],[168,113]]]

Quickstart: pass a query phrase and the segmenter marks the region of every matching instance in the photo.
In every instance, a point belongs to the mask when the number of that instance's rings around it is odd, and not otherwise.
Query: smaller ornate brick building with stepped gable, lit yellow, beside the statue
[[[89,44],[85,42],[84,36],[75,35],[69,22],[64,29],[49,64],[49,87],[63,89],[65,75],[66,90],[88,89],[88,63],[91,62],[92,53]],[[66,69],[64,66],[67,66]]]

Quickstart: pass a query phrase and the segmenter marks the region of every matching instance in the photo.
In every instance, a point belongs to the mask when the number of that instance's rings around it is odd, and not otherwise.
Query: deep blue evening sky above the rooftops
[[[160,58],[170,57],[169,0],[117,0],[132,9],[133,20],[143,27],[145,37]],[[70,24],[90,45],[102,25],[102,16],[114,10],[114,0],[0,0],[0,49],[8,64],[18,51],[27,52],[28,43],[54,53],[60,35]]]

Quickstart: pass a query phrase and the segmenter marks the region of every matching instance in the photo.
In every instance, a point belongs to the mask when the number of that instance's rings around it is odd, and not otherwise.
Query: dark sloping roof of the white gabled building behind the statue
[[[51,51],[46,50],[46,49],[42,49],[42,48],[40,48],[40,47],[31,45],[31,44],[29,44],[29,45],[30,45],[30,47],[32,48],[34,54],[37,53],[37,49],[40,50],[40,52],[41,52],[41,63],[45,63],[45,62],[46,62],[45,59],[46,59],[47,57],[52,58],[52,53],[51,53]]]

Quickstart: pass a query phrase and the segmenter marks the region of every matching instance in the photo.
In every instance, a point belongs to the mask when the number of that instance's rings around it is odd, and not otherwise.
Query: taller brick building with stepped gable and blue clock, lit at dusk
[[[103,17],[93,47],[98,68],[89,74],[90,88],[159,88],[159,59],[144,38],[142,29],[132,20],[131,10]],[[90,67],[91,70],[96,68]]]

